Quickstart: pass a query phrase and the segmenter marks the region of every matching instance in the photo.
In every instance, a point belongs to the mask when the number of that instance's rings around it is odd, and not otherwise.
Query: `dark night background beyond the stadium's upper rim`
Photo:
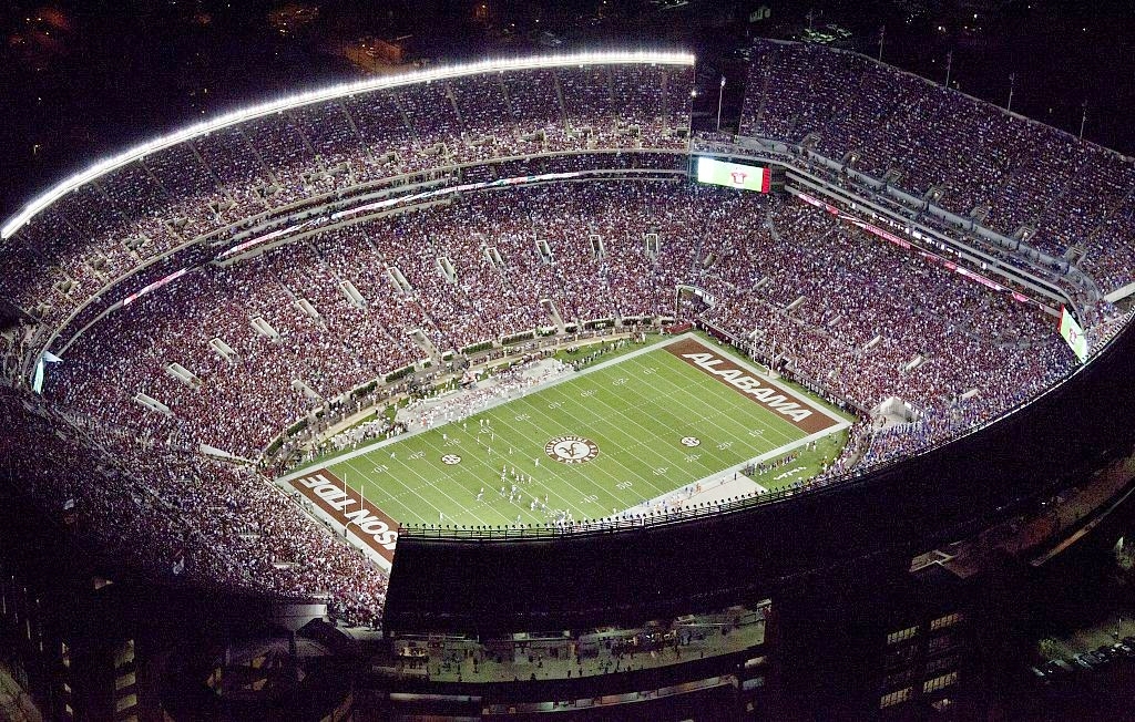
[[[471,22],[480,0],[310,1],[319,19],[281,36],[268,22],[285,5],[276,0],[0,0],[0,216],[92,160],[203,112],[356,77],[333,51],[365,33],[412,34],[418,56],[443,61],[531,51],[546,29],[563,49],[680,44],[698,53],[708,83],[720,68],[738,73],[720,61],[746,33],[791,36],[813,9],[817,26],[848,27],[852,46],[872,56],[885,25],[884,60],[927,77],[944,77],[952,50],[960,88],[999,104],[1016,73],[1014,110],[1059,128],[1078,131],[1086,101],[1085,137],[1135,152],[1130,0],[691,0],[665,11],[646,0],[486,0],[490,29]],[[763,3],[773,18],[746,23]]]

